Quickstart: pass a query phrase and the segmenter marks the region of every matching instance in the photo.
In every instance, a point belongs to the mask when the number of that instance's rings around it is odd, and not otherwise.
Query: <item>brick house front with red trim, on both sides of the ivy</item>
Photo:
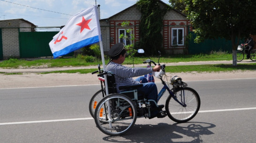
[[[163,1],[159,0],[161,7],[170,7]],[[119,13],[100,20],[100,28],[102,35],[102,43],[104,51],[108,51],[114,44],[122,42],[120,34],[126,33],[125,29],[132,29],[135,34],[134,41],[123,41],[125,45],[134,43],[139,40],[139,24],[141,13],[138,10],[136,4],[120,11]],[[129,21],[129,27],[121,27],[121,23]],[[188,35],[188,31],[192,30],[192,26],[186,15],[181,12],[170,8],[164,16],[163,20],[163,47],[167,53],[184,53],[186,48],[185,37]]]

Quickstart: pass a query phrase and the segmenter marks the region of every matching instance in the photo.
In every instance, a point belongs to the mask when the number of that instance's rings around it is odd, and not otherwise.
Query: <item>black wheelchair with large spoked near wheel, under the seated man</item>
[[[125,91],[117,93],[113,74],[105,74],[109,95],[98,102],[94,120],[100,131],[106,135],[123,135],[134,126],[137,118],[151,117],[151,103],[157,107],[158,105],[154,100],[147,99],[143,93],[138,93],[137,88],[143,84],[120,86],[119,89]]]

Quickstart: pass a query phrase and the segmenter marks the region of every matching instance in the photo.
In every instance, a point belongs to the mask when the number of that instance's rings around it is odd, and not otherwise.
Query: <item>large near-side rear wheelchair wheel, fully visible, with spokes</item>
[[[103,98],[94,113],[94,120],[99,130],[111,136],[127,133],[134,126],[136,118],[136,105],[131,98],[119,93]]]

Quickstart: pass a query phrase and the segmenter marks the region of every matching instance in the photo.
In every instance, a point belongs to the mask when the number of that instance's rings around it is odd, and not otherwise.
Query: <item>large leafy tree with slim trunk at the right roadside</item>
[[[241,38],[256,33],[256,0],[184,0],[188,19],[195,29],[195,41],[206,38],[231,40],[233,66]]]

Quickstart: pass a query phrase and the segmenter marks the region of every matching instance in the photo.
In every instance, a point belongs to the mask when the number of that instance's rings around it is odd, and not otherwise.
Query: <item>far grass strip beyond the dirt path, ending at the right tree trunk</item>
[[[135,57],[134,64],[141,64],[143,61],[149,59],[148,57]],[[158,57],[151,57],[151,60],[158,61]],[[211,60],[232,60],[232,54],[196,54],[196,55],[171,55],[162,56],[161,63],[172,62],[187,62],[187,61],[211,61]],[[109,59],[105,58],[105,64]],[[82,58],[60,58],[60,59],[40,59],[40,60],[24,60],[24,59],[9,59],[0,61],[0,68],[52,68],[52,67],[79,67],[79,66],[95,66],[102,63],[101,59],[87,62]],[[133,64],[133,60],[126,58],[126,64]]]

